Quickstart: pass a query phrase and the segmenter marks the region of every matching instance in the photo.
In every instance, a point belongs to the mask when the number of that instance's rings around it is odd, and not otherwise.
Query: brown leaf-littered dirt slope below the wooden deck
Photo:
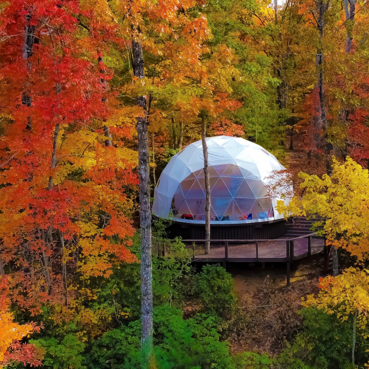
[[[227,268],[235,281],[235,292],[247,321],[235,332],[232,351],[258,351],[276,354],[301,328],[301,297],[318,291],[318,277],[324,276],[323,256],[297,261],[291,268],[291,284],[286,285],[286,265],[237,263]]]

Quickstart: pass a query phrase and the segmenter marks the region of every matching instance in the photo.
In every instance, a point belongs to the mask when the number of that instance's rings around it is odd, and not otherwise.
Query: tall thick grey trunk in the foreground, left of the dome
[[[138,34],[141,30],[138,28]],[[132,39],[132,67],[135,77],[145,77],[142,44]],[[145,111],[145,117],[137,117],[138,177],[141,228],[141,350],[143,367],[152,360],[152,262],[151,262],[151,208],[149,177],[149,139],[146,96],[136,98],[137,106]]]

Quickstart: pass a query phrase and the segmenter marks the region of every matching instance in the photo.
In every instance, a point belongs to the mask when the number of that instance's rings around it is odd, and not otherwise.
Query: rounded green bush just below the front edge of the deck
[[[229,315],[236,308],[233,288],[232,276],[219,265],[204,265],[195,284],[203,309],[220,316]]]

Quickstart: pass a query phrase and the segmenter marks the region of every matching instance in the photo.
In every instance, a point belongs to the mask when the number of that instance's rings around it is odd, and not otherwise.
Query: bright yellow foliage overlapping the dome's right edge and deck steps
[[[324,218],[323,234],[327,245],[342,247],[359,260],[369,256],[369,174],[368,169],[351,158],[332,162],[331,176],[301,172],[301,198],[295,196],[285,206],[278,201],[277,210],[285,216]]]

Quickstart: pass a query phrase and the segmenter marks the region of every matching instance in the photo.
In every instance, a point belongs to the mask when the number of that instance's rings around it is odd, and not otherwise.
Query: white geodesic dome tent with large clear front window
[[[274,155],[243,138],[206,139],[210,172],[211,224],[283,219],[266,186],[285,169]],[[185,223],[205,223],[204,157],[201,141],[174,155],[155,187],[153,213]]]

